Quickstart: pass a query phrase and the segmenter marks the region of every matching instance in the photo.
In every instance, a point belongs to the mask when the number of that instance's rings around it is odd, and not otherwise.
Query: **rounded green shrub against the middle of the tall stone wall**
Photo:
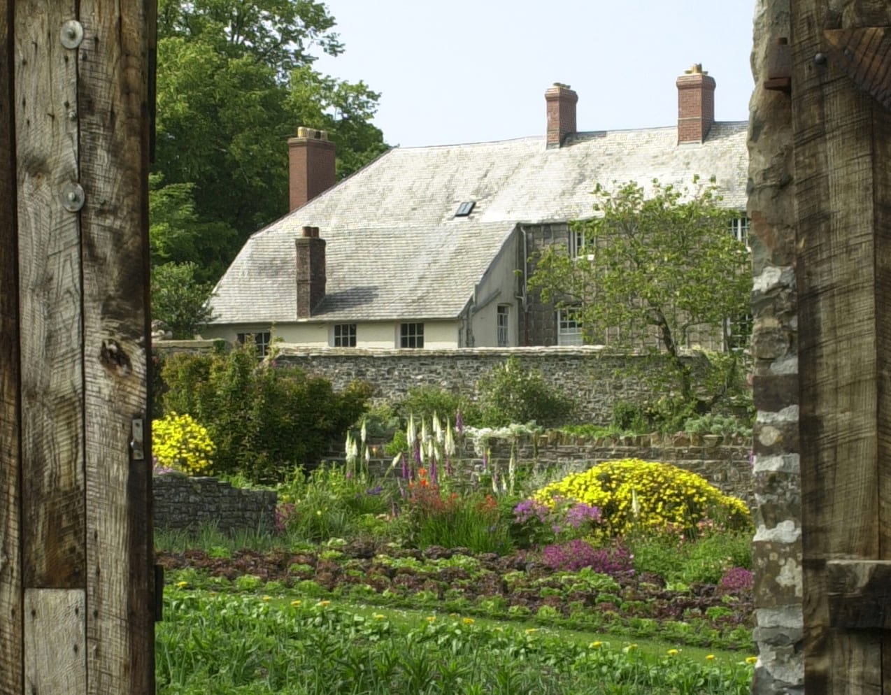
[[[535,421],[542,427],[566,423],[576,409],[566,394],[548,384],[541,372],[530,370],[511,356],[477,384],[480,424],[506,427]],[[465,424],[470,422],[465,419]]]

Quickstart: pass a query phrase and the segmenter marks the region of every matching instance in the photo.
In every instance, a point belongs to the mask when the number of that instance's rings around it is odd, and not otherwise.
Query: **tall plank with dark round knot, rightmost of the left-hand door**
[[[86,378],[88,692],[154,692],[147,413],[147,2],[81,0],[78,61]],[[146,437],[150,436],[145,428]]]

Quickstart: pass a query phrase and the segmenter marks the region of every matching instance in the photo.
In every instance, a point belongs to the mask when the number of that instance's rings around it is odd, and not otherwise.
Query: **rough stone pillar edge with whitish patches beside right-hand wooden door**
[[[757,0],[748,121],[748,217],[754,288],[752,356],[756,536],[753,695],[804,692],[798,457],[795,184],[789,94],[767,89],[772,46],[789,37],[789,0]]]

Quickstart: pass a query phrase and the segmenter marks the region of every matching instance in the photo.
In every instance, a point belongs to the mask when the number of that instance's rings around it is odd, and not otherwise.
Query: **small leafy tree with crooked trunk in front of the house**
[[[565,247],[545,249],[535,258],[530,288],[575,312],[585,342],[649,350],[666,388],[685,404],[701,405],[705,397],[710,406],[730,374],[722,385],[707,385],[711,394],[698,392],[683,348],[703,332],[720,336],[748,314],[748,250],[730,232],[740,213],[722,208],[715,185],[698,178],[692,189],[654,180],[650,195],[635,182],[615,190],[598,184],[593,195],[594,217],[571,226],[576,258]],[[732,366],[716,362],[724,372]]]

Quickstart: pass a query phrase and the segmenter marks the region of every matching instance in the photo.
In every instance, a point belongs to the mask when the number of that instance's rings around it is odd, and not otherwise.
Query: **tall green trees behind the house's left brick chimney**
[[[152,258],[194,262],[212,282],[287,212],[298,126],[329,131],[339,176],[386,151],[371,122],[380,94],[313,69],[311,51],[343,51],[322,3],[159,0],[158,20]]]

